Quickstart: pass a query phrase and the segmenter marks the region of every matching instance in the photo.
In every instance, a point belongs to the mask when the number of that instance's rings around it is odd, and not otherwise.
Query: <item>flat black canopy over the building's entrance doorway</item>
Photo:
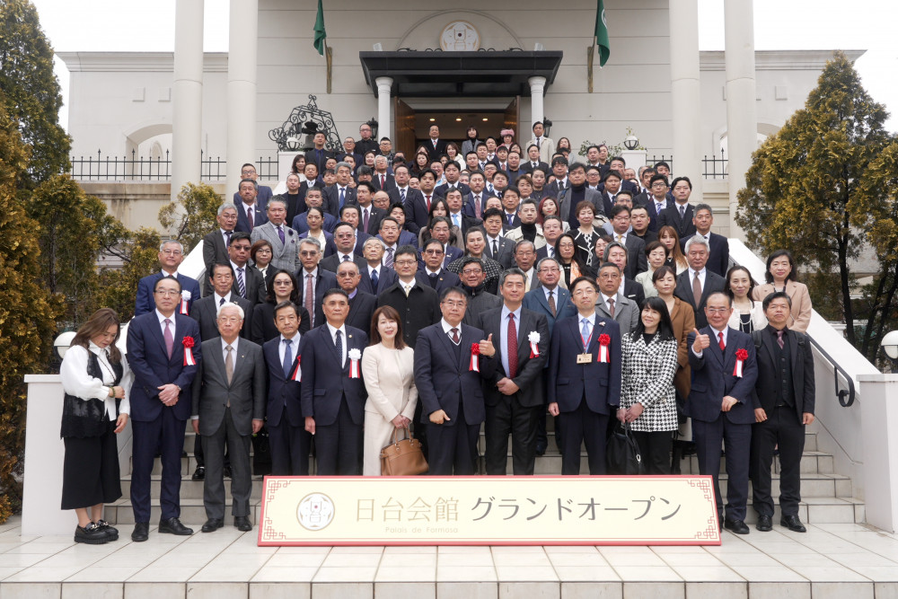
[[[406,97],[530,95],[531,77],[555,81],[562,52],[359,52],[365,83],[378,95],[378,77],[391,77],[390,95]]]

